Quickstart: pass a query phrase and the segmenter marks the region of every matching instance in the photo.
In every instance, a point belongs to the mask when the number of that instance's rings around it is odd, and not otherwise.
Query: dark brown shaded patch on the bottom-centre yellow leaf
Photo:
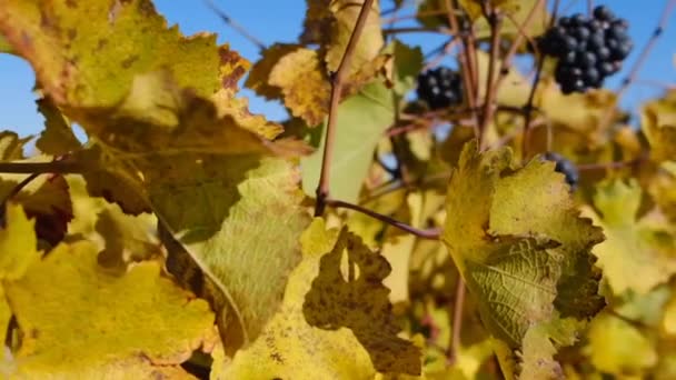
[[[352,330],[376,370],[420,374],[419,350],[397,337],[389,290],[381,283],[389,272],[385,258],[344,228],[336,246],[321,258],[302,311],[310,326]]]

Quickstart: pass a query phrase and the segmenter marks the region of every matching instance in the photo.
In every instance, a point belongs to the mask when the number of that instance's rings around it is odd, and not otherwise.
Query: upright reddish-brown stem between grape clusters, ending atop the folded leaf
[[[486,4],[486,2],[483,2]],[[484,112],[481,114],[481,126],[479,127],[479,147],[484,147],[484,133],[486,129],[488,129],[488,124],[493,120],[494,113],[494,101],[497,93],[497,86],[494,86],[495,80],[495,67],[498,62],[498,54],[500,52],[500,26],[503,22],[503,18],[498,14],[495,8],[490,7],[490,10],[486,9],[488,6],[483,6],[485,8],[485,17],[488,20],[488,24],[490,26],[490,60],[488,61],[488,79],[486,80],[486,97],[484,100]]]

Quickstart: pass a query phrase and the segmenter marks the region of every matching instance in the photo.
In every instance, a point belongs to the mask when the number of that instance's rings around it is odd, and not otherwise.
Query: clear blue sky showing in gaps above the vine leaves
[[[266,44],[276,41],[291,42],[300,33],[306,9],[305,0],[213,0],[238,23],[256,36]],[[410,1],[412,2],[412,1]],[[636,60],[639,50],[655,29],[666,0],[613,0],[595,1],[605,3],[620,17],[630,22],[630,34],[636,48],[627,59],[625,69],[609,79],[609,88],[617,88],[620,80]],[[245,58],[255,61],[259,57],[258,48],[228,28],[201,0],[155,0],[157,9],[170,24],[178,23],[185,34],[208,31],[219,36],[219,42],[230,47]],[[585,0],[561,0],[566,13],[584,11]],[[382,0],[382,9],[390,8],[389,0]],[[402,12],[406,14],[408,12]],[[401,23],[400,26],[414,26]],[[434,34],[410,33],[401,36],[401,40],[420,44],[424,51],[429,51],[444,41]],[[648,62],[639,73],[640,81],[632,87],[623,99],[623,107],[636,110],[643,100],[655,97],[660,88],[649,84],[659,82],[676,84],[676,13],[672,14],[669,24],[658,40]],[[0,130],[14,130],[21,136],[39,133],[42,129],[42,118],[37,113],[32,93],[34,77],[30,67],[21,59],[0,53]],[[245,91],[246,96],[252,96]],[[282,107],[252,97],[252,111],[264,113],[272,120],[285,118]]]

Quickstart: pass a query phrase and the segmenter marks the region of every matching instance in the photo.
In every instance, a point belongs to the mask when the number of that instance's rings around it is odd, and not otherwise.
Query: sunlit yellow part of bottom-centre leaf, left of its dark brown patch
[[[254,344],[237,353],[212,379],[370,379],[368,352],[348,329],[324,330],[304,316],[306,294],[338,233],[321,219],[302,233],[302,261],[289,276],[284,302]],[[215,359],[215,361],[218,359]],[[215,366],[216,368],[216,366]]]

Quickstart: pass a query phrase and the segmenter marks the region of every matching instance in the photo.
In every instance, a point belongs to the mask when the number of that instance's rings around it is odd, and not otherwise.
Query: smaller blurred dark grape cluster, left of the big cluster
[[[418,76],[417,92],[430,109],[438,110],[463,102],[463,81],[459,73],[438,67]]]

